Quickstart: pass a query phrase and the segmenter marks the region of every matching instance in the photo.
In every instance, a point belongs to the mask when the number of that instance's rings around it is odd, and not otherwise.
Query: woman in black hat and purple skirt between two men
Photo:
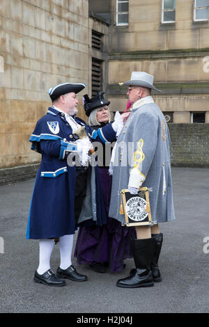
[[[110,102],[105,100],[103,95],[104,92],[101,91],[91,99],[88,95],[84,95],[84,109],[88,116],[88,125],[93,129],[99,129],[110,122],[108,107]],[[105,143],[103,144],[103,162],[100,158],[98,159],[100,161],[100,185],[108,216],[112,177],[109,175],[109,166],[105,164]],[[130,239],[134,237],[134,233],[134,228],[122,226],[111,217],[108,217],[106,225],[80,227],[75,246],[77,263],[89,264],[91,269],[98,273],[105,273],[107,267],[113,272],[121,271],[125,266],[123,260],[132,257]]]

